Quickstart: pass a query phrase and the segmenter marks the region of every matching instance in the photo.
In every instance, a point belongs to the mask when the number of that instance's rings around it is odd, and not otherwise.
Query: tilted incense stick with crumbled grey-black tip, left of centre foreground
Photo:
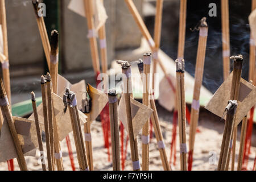
[[[64,105],[68,106],[69,114],[72,121],[73,135],[75,138],[77,158],[79,160],[79,167],[81,171],[89,171],[86,159],[86,152],[84,147],[84,140],[82,138],[82,131],[79,119],[79,111],[77,109],[76,94],[71,92],[68,88],[64,94]]]

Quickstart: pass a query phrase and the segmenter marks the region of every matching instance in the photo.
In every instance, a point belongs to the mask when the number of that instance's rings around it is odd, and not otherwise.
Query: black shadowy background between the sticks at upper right
[[[208,15],[210,3],[216,3],[217,16]],[[177,43],[179,35],[179,1],[177,3],[164,1],[163,31],[161,49],[172,59],[177,58]],[[247,80],[249,73],[249,42],[250,27],[248,16],[251,13],[251,1],[229,1],[230,19],[230,53],[242,54],[244,63],[242,77]],[[205,56],[205,68],[203,85],[211,92],[215,92],[223,82],[222,73],[222,35],[221,35],[221,1],[197,0],[187,1],[187,27],[185,39],[185,69],[192,76],[195,75],[196,53],[199,32],[191,32],[189,28],[195,27],[203,17],[207,17],[209,26],[207,51]],[[145,18],[146,24],[154,35],[154,16]],[[232,67],[232,63],[230,64]],[[230,68],[232,70],[232,68]]]

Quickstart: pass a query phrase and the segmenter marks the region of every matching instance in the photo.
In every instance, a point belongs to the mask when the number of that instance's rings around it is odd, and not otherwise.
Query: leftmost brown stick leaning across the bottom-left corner
[[[6,122],[9,125],[11,137],[13,138],[14,146],[16,149],[16,152],[18,154],[18,164],[21,171],[27,171],[27,164],[26,160],[24,158],[24,154],[22,151],[22,145],[19,141],[18,134],[15,129],[14,121],[13,121],[13,115],[11,115],[11,107],[8,101],[8,98],[6,96],[5,88],[3,86],[2,78],[0,78],[0,106],[3,114],[3,118],[6,119]]]

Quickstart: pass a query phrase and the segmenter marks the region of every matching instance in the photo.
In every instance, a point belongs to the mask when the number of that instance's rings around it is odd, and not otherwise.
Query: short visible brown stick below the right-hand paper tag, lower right
[[[241,137],[240,137],[240,148],[238,154],[238,164],[237,164],[237,171],[242,170],[242,160],[243,160],[243,148],[245,147],[245,135],[246,135],[246,127],[247,127],[247,115],[243,118],[242,121],[242,129],[241,129]]]

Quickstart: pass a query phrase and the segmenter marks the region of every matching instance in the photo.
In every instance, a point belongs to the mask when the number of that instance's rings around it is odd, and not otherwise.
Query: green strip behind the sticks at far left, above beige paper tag
[[[42,103],[42,97],[36,98],[36,105],[39,106]],[[12,113],[16,117],[23,117],[24,115],[32,113],[31,100],[19,102],[11,106]]]

